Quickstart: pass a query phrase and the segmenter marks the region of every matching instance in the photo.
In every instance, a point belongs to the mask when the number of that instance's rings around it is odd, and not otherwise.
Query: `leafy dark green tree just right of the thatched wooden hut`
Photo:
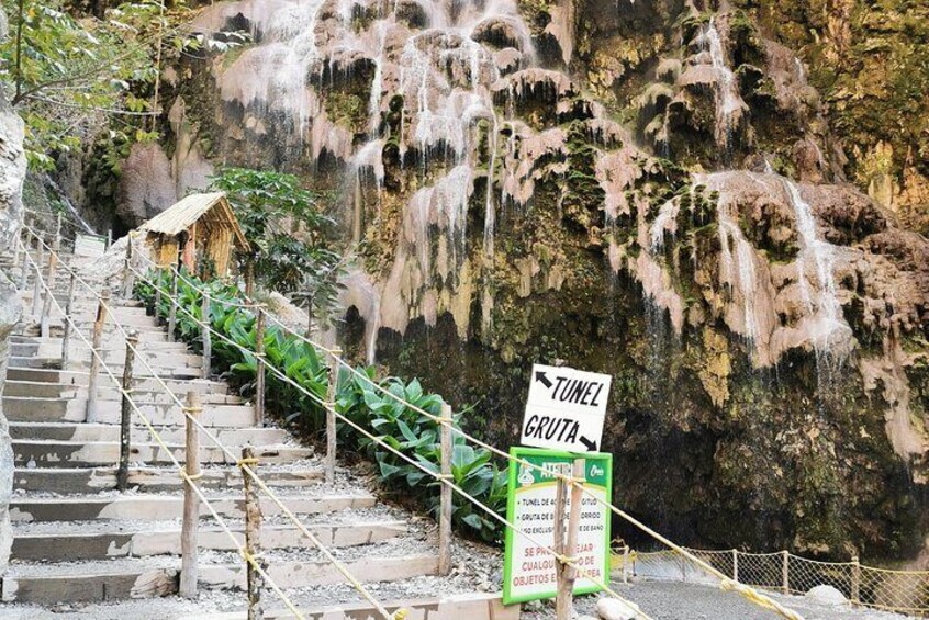
[[[331,249],[335,222],[321,213],[316,194],[293,174],[224,168],[212,187],[226,192],[245,237],[243,270],[281,292],[298,292],[314,316],[325,320],[340,289],[342,258]]]

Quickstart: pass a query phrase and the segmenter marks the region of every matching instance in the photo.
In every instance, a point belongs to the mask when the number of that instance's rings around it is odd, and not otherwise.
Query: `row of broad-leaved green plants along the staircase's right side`
[[[149,273],[149,279],[163,291],[169,291],[171,283],[168,273]],[[246,350],[254,350],[256,343],[255,317],[244,308],[222,303],[237,302],[235,286],[220,282],[201,282],[184,273],[197,286],[178,281],[178,300],[195,319],[201,319],[202,297],[198,289],[205,288],[213,302],[209,306],[209,319],[213,329]],[[155,288],[139,280],[135,286],[135,296],[154,309]],[[161,296],[159,316],[167,316],[170,302]],[[177,336],[202,350],[201,329],[194,318],[186,312],[177,311]],[[230,377],[246,395],[254,392],[257,373],[257,359],[223,338],[212,339],[213,365],[230,373]],[[325,401],[328,387],[328,369],[316,349],[277,325],[268,325],[265,330],[265,356],[269,367],[278,369],[290,381],[302,386],[316,399],[303,391],[278,377],[271,372],[266,374],[266,406],[287,424],[296,425],[311,436],[321,438],[325,432],[325,410],[318,402]],[[354,425],[365,429],[379,441],[415,460],[429,472],[438,473],[440,464],[440,436],[438,425],[429,417],[401,403],[410,403],[430,415],[441,413],[441,397],[424,392],[417,380],[405,383],[396,377],[376,382],[373,368],[359,368],[361,379],[348,369],[339,372],[336,393],[336,410]],[[373,385],[392,394],[377,390]],[[460,429],[458,419],[455,428]],[[351,425],[339,422],[337,426],[339,444],[377,463],[381,482],[395,489],[404,497],[424,506],[436,516],[439,509],[439,484],[421,469],[401,459],[383,446],[366,437]],[[488,507],[502,514],[506,508],[506,471],[500,470],[492,461],[490,451],[466,443],[465,438],[452,433],[454,452],[451,472],[454,482],[466,493],[472,495]],[[499,540],[502,530],[480,508],[458,494],[454,494],[452,522],[461,530],[475,534],[483,540]]]

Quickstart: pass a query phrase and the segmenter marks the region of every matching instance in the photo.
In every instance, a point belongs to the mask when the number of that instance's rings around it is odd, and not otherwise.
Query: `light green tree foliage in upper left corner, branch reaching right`
[[[184,2],[166,10],[160,0],[133,0],[97,13],[66,0],[2,0],[10,36],[0,41],[0,82],[25,121],[26,157],[48,170],[54,155],[104,137],[108,164],[134,142],[155,139],[153,84],[160,67],[180,53],[240,45],[238,33],[204,42],[179,27]],[[4,84],[5,86],[5,84]],[[112,160],[112,161],[111,161]]]

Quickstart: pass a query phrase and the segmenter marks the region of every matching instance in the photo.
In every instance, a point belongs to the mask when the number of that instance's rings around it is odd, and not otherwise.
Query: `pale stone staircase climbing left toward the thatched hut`
[[[63,255],[63,260],[75,268],[81,261],[68,255]],[[19,266],[12,264],[11,253],[0,255],[0,269],[19,281]],[[55,296],[64,307],[68,280],[61,275],[64,270],[58,273]],[[87,280],[101,290],[100,278],[91,274]],[[76,290],[72,318],[89,340],[97,302],[80,284]],[[20,334],[11,342],[3,392],[15,471],[10,506],[14,539],[10,567],[0,579],[0,616],[4,604],[93,605],[175,594],[183,491],[167,451],[183,461],[182,412],[153,373],[136,361],[134,401],[152,420],[167,450],[133,414],[131,489],[115,491],[117,386],[101,369],[99,414],[93,424],[86,422],[90,353],[72,335],[69,362],[61,368],[63,318],[53,309],[49,336],[40,337],[30,312],[32,291],[30,275],[21,293],[24,317]],[[192,354],[184,343],[169,342],[165,328],[147,316],[145,308],[115,296],[111,305],[113,317],[107,324],[103,349],[104,361],[114,375],[122,376],[125,340],[113,318],[138,331],[141,356],[175,394],[180,398],[189,391],[201,395],[201,421],[233,454],[239,454],[243,446],[254,447],[262,480],[324,544],[335,548],[355,576],[362,582],[384,583],[436,573],[437,548],[429,540],[433,532],[424,533],[419,526],[411,528],[408,515],[384,506],[345,471],[339,471],[334,485],[325,485],[322,460],[311,449],[282,429],[256,426],[249,403],[232,394],[221,381],[200,379],[200,356]],[[200,484],[217,514],[242,539],[242,475],[234,460],[208,437],[201,436],[201,447]],[[309,605],[321,607],[325,597],[313,596],[313,588],[340,584],[344,577],[281,515],[278,505],[262,498],[261,508],[269,575],[282,588],[301,588],[298,591]],[[245,563],[204,507],[199,546],[201,589],[235,593],[244,587]],[[231,600],[242,609],[245,597],[242,593],[235,596],[237,599]],[[265,597],[266,607],[283,607],[270,588]],[[439,612],[429,615],[430,619],[461,618],[465,602],[470,609],[468,618],[514,617],[513,609],[504,610],[499,604],[499,595],[466,595],[456,600],[445,606],[434,598],[403,602],[411,609]],[[153,617],[164,618],[164,613]]]

